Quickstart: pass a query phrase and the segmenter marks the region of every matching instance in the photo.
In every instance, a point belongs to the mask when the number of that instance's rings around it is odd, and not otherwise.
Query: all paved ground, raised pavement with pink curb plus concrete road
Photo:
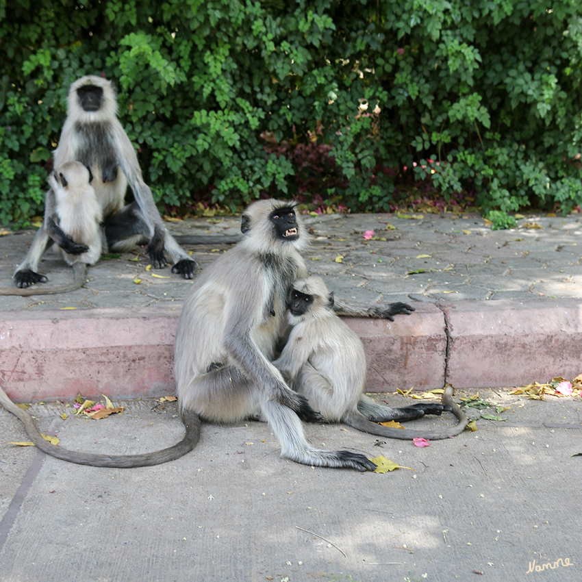
[[[472,215],[309,220],[308,266],[337,296],[417,308],[394,323],[349,321],[366,346],[368,388],[449,381],[457,401],[479,392],[492,406],[468,408],[477,431],[418,448],[305,425],[315,446],[403,467],[381,475],[281,459],[258,422],[203,425],[186,457],[118,470],[8,444],[27,437],[1,410],[0,581],[579,581],[580,398],[508,389],[582,372],[582,220],[519,222],[491,231]],[[170,226],[177,236],[229,234],[238,220]],[[364,239],[368,230],[378,239]],[[0,286],[12,284],[30,240],[0,238]],[[227,249],[185,246],[201,266]],[[191,283],[146,266],[136,249],[90,268],[71,294],[0,297],[0,383],[15,401],[36,402],[29,411],[61,446],[137,453],[183,433],[175,403],[151,396],[173,394],[175,320]],[[58,260],[45,268],[51,284],[69,276]],[[125,410],[75,417],[77,392]],[[414,424],[453,422],[446,414]]]

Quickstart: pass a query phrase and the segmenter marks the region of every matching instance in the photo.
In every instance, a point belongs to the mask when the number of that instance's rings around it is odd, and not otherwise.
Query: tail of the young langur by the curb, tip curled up
[[[354,411],[349,414],[349,416],[344,417],[342,420],[355,429],[359,431],[364,431],[372,435],[383,436],[386,438],[396,438],[399,440],[412,440],[413,438],[426,438],[431,440],[440,440],[444,438],[449,438],[462,433],[465,427],[468,425],[469,419],[466,414],[461,410],[461,407],[453,401],[453,386],[450,384],[446,385],[444,388],[444,394],[442,395],[442,403],[451,407],[451,412],[457,417],[459,422],[457,425],[451,429],[442,429],[438,431],[427,430],[414,430],[409,431],[408,429],[393,429],[391,427],[383,427],[377,424],[377,422],[372,422],[368,420],[359,411]]]

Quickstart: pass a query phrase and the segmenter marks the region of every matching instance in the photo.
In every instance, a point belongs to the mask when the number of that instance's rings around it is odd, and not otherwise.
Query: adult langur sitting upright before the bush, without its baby
[[[174,263],[172,272],[192,279],[196,262],[166,231],[151,190],[143,180],[136,151],[117,118],[115,88],[103,77],[81,77],[68,90],[67,116],[54,153],[54,166],[73,161],[90,168],[94,176],[92,186],[105,220],[110,251],[127,251],[135,244],[148,243],[147,251],[154,268],[168,264],[165,251]],[[135,201],[124,207],[128,184]],[[51,195],[49,192],[47,199]],[[53,242],[61,243],[54,225],[55,207],[47,203],[44,223],[25,260],[14,272],[18,288],[47,281],[47,277],[37,272],[38,262]],[[77,242],[73,240],[73,244]],[[74,254],[71,249],[64,250]]]

